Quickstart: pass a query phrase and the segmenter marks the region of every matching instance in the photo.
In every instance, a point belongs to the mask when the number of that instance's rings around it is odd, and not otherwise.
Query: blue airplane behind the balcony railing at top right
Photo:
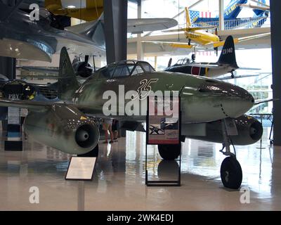
[[[261,4],[266,4],[266,0],[259,0]],[[261,9],[253,9],[256,20],[249,20],[250,18],[237,18],[237,15],[241,12],[242,6],[240,4],[246,4],[247,0],[231,0],[224,11],[225,28],[236,27],[237,25],[244,25],[247,28],[261,27],[266,22],[268,17],[268,11]],[[202,18],[199,17],[199,11],[190,11],[190,19],[192,24],[197,26],[202,23],[218,23],[218,17],[216,18]]]

